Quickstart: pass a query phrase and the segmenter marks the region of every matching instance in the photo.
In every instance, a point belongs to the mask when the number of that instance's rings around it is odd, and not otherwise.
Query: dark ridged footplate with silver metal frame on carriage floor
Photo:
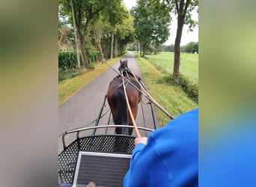
[[[93,181],[100,186],[123,186],[131,155],[80,151],[73,186],[82,187]]]

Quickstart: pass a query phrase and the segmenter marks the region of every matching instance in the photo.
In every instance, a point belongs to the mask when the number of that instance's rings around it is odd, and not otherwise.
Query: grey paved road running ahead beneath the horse
[[[135,61],[135,55],[129,53],[124,57],[128,60],[128,67],[138,76],[141,77],[141,73],[138,69],[137,62]],[[118,70],[119,61],[113,66],[115,70]],[[73,96],[70,96],[62,105],[58,108],[58,125],[59,125],[59,134],[66,132],[67,130],[78,128],[81,126],[88,125],[91,121],[97,119],[97,115],[100,112],[100,109],[103,106],[104,96],[109,88],[109,82],[117,76],[114,70],[109,68],[105,73],[98,76],[80,91],[75,93]],[[144,102],[147,102],[147,99],[143,96],[142,99]],[[136,123],[138,126],[145,126],[150,129],[153,127],[153,118],[150,110],[150,105],[141,104],[142,108],[139,107],[138,116]],[[142,114],[144,111],[144,117]],[[103,107],[103,114],[109,111],[109,105],[106,101],[106,105]],[[100,119],[99,125],[107,125],[109,120],[109,112]],[[111,116],[111,115],[110,115]],[[143,120],[144,119],[144,120]],[[111,123],[113,124],[113,123]],[[95,123],[92,123],[88,126],[94,126]],[[158,128],[158,122],[157,126]],[[110,129],[111,131],[111,129]],[[114,129],[113,129],[114,131]],[[98,132],[98,130],[97,130]],[[134,131],[133,131],[134,132]],[[86,132],[88,133],[88,132]],[[91,132],[89,132],[91,133]],[[100,133],[103,133],[102,131]],[[144,131],[141,132],[141,135],[147,135]],[[67,135],[67,143],[72,141],[74,135]],[[59,140],[59,152],[62,150],[62,144]]]

